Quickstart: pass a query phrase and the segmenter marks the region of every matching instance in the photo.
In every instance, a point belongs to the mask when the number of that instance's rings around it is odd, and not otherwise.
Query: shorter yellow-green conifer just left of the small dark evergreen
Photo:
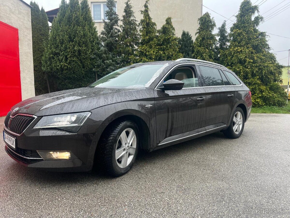
[[[159,47],[160,59],[159,60],[176,60],[182,58],[179,52],[178,37],[175,36],[175,28],[172,24],[172,18],[167,17],[165,24],[158,30],[159,33]]]

